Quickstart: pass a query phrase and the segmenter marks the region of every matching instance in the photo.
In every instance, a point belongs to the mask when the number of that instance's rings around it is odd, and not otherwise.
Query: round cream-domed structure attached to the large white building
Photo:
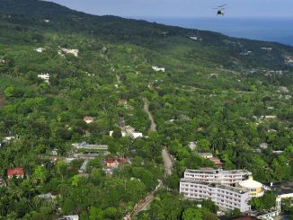
[[[250,176],[248,180],[239,181],[237,187],[249,191],[251,197],[262,197],[264,194],[262,183],[253,180],[253,176]]]

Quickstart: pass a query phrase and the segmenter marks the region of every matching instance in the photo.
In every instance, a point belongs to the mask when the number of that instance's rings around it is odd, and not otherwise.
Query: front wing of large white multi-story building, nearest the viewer
[[[218,207],[229,210],[239,208],[241,212],[250,210],[249,191],[218,183],[202,182],[191,179],[181,179],[180,193],[192,200],[211,199]]]

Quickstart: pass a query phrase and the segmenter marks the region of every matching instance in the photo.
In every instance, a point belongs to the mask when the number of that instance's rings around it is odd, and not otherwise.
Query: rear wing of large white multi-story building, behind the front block
[[[186,170],[184,172],[185,179],[205,181],[210,183],[219,183],[225,185],[235,185],[241,180],[245,180],[252,172],[246,170],[223,171],[222,169],[214,170],[203,168],[200,170]]]

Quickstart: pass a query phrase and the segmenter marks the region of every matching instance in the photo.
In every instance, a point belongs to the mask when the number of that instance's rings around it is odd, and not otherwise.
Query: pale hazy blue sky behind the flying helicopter
[[[228,4],[230,17],[290,17],[293,0],[49,0],[85,13],[122,17],[213,17],[212,8]]]

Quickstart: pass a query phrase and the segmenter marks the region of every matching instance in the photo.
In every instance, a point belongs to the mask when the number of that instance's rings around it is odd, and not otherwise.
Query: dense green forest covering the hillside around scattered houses
[[[0,219],[122,219],[161,180],[134,219],[218,219],[210,200],[178,192],[186,168],[215,167],[198,152],[263,183],[293,180],[292,60],[278,43],[0,0]],[[123,125],[144,137],[121,136]],[[83,142],[109,152],[75,158]],[[110,175],[109,158],[127,163]],[[8,178],[17,167],[23,178]]]

